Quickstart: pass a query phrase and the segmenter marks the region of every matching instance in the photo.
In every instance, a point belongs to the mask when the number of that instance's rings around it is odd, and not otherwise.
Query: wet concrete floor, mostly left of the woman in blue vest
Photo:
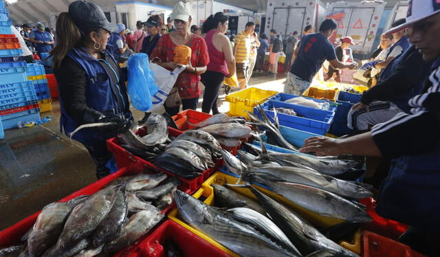
[[[284,76],[254,74],[252,87],[283,91]],[[229,110],[221,89],[219,110]],[[199,109],[202,99],[199,100]],[[0,139],[0,230],[96,181],[95,165],[87,150],[59,132],[60,109],[52,102],[45,124],[5,131]],[[135,120],[143,113],[133,110]]]

